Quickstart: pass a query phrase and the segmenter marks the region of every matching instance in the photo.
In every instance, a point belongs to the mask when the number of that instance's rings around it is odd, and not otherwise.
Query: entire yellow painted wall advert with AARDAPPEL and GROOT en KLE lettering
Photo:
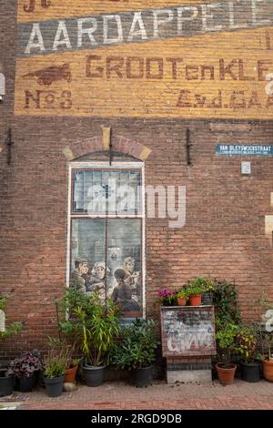
[[[19,0],[16,45],[15,115],[273,117],[271,0]]]

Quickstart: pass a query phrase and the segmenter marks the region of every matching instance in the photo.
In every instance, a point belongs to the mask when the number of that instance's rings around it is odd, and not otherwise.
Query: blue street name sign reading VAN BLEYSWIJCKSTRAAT
[[[239,146],[235,144],[219,144],[217,155],[229,156],[273,156],[273,146]]]

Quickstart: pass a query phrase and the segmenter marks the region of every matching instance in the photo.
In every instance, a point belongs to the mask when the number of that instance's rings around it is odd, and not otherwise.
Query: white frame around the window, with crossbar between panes
[[[113,161],[111,165],[107,161],[83,161],[83,162],[70,162],[68,164],[68,207],[67,207],[67,247],[66,247],[66,288],[69,288],[70,282],[70,249],[71,249],[71,223],[72,219],[78,219],[79,216],[72,213],[72,170],[73,169],[83,169],[83,168],[104,168],[104,169],[139,169],[141,172],[141,214],[136,216],[131,215],[109,215],[108,219],[142,219],[142,317],[146,319],[146,204],[145,204],[145,163],[144,162],[115,162]],[[94,215],[86,216],[88,218],[102,218],[105,219],[105,215]],[[85,218],[85,216],[83,216]]]

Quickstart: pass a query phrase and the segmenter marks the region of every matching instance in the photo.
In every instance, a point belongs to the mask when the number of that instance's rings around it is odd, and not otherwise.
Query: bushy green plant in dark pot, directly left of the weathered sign
[[[153,362],[158,344],[155,321],[136,319],[122,332],[112,361],[118,369],[132,371],[131,380],[136,387],[145,387],[153,382]]]

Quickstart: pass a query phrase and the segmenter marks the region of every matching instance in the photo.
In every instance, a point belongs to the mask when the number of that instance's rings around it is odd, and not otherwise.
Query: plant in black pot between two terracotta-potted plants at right
[[[260,362],[257,357],[257,338],[248,328],[242,328],[236,335],[236,351],[243,357],[240,362],[241,377],[246,382],[259,382]]]

